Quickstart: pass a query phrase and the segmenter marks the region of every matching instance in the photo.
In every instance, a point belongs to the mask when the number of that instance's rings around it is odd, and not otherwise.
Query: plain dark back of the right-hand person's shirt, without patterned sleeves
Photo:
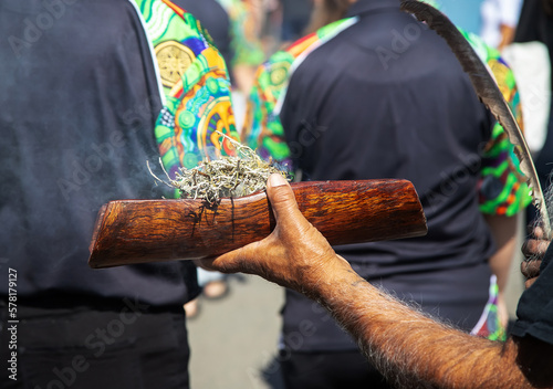
[[[476,189],[493,122],[446,42],[398,4],[352,6],[358,22],[292,74],[281,120],[303,179],[415,185],[427,236],[335,250],[371,282],[471,329],[488,299],[487,261],[494,251]],[[302,347],[344,347],[335,343],[338,330],[324,334],[314,309],[288,292],[284,333],[309,317],[319,332]],[[326,337],[325,345],[317,337]]]

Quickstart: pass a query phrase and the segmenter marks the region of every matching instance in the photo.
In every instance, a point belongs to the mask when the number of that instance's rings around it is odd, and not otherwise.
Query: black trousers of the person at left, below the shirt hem
[[[25,318],[13,325],[8,320],[6,306],[1,307],[2,388],[189,386],[184,311],[152,313],[142,311],[134,302],[116,311],[24,311],[19,307],[18,313]],[[15,359],[11,345],[17,345]]]

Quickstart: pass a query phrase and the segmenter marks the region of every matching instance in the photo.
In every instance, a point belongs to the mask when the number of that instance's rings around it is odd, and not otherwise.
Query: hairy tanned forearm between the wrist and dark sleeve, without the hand
[[[441,325],[373,287],[344,266],[316,297],[399,388],[531,388],[517,347]]]

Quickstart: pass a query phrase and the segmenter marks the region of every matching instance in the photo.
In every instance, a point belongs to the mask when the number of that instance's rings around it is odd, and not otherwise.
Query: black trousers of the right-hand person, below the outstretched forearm
[[[286,389],[388,389],[359,351],[281,354]]]

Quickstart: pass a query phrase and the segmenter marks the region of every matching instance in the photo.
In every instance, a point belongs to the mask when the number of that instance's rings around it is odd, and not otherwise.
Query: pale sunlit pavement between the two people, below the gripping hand
[[[255,276],[229,278],[222,299],[201,298],[188,322],[191,389],[267,389],[261,369],[275,355],[284,292]]]

